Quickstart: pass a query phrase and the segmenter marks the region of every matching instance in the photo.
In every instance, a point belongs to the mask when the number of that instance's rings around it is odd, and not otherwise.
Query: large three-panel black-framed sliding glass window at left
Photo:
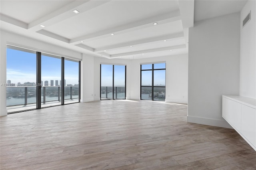
[[[12,45],[6,61],[8,113],[80,101],[80,61]]]

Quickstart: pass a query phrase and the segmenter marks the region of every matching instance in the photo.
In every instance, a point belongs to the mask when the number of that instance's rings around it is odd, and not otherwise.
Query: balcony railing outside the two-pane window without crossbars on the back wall
[[[101,86],[101,98],[113,99],[113,87]],[[114,99],[125,99],[125,86],[114,86]]]

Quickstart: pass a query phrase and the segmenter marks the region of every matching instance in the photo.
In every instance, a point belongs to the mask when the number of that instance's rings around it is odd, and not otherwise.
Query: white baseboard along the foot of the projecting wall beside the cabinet
[[[232,128],[225,120],[208,119],[208,118],[203,118],[203,117],[188,116],[187,121],[189,123],[210,125],[210,126],[214,126],[214,127]]]

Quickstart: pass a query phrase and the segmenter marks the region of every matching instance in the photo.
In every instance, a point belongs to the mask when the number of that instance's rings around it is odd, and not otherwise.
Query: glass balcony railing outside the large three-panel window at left
[[[78,99],[78,86],[64,86],[64,100]],[[41,88],[41,102],[60,102],[60,86],[43,86]],[[8,86],[6,87],[6,106],[36,104],[36,86]]]

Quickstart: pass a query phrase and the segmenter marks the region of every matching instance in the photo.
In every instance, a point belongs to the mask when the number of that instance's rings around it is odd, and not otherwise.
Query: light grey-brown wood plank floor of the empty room
[[[238,133],[186,115],[186,105],[126,100],[11,114],[0,118],[0,169],[256,169]]]

